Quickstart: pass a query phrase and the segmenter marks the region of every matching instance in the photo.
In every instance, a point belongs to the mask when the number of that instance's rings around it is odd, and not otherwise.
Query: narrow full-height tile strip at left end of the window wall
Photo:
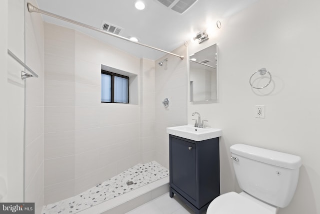
[[[44,204],[74,194],[74,35],[44,23]]]

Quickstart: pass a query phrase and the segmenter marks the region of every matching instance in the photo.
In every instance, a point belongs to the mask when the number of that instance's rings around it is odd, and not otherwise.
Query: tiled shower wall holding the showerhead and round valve
[[[186,47],[173,50],[172,53],[186,56]],[[163,66],[158,62],[167,58]],[[155,160],[169,168],[169,137],[166,127],[186,124],[187,111],[187,68],[186,57],[165,55],[155,62]],[[168,108],[164,108],[162,101],[169,99]]]

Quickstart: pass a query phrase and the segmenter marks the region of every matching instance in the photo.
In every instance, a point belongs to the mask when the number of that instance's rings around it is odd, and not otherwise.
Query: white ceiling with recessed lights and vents
[[[38,8],[95,28],[102,21],[123,28],[119,36],[139,38],[139,43],[172,52],[199,31],[215,26],[258,0],[198,0],[179,14],[157,0],[142,0],[143,11],[134,8],[135,0],[37,0]],[[42,15],[48,23],[72,28],[139,58],[159,59],[164,53],[109,35]]]

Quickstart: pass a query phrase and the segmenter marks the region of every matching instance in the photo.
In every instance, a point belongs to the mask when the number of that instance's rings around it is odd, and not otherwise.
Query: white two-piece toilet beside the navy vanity
[[[301,158],[245,144],[230,147],[240,193],[219,195],[206,214],[275,214],[287,206],[298,182]]]

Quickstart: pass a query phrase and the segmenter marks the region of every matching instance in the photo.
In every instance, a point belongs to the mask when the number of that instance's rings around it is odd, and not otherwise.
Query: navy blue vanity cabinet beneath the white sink
[[[193,141],[169,134],[170,197],[176,194],[196,214],[220,195],[219,138]]]

